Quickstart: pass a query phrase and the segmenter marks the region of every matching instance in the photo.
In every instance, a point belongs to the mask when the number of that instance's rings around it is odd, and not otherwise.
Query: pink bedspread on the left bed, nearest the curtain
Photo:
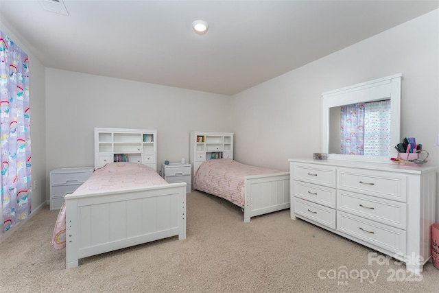
[[[168,184],[154,169],[139,163],[108,163],[96,169],[86,182],[73,194],[93,194],[118,189],[147,187]],[[61,250],[66,247],[66,209],[65,202],[58,213],[52,247]]]

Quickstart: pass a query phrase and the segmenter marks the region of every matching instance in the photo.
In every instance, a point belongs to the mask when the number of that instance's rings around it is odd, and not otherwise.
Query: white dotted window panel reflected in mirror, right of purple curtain
[[[365,105],[364,154],[390,156],[390,99]]]

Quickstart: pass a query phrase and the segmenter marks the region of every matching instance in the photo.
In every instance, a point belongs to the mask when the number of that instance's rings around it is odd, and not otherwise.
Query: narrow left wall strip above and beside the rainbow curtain
[[[32,54],[12,30],[8,23],[0,22],[0,30],[19,45],[29,56],[29,98],[31,117],[31,147],[32,147],[32,212],[40,208],[46,201],[46,139],[45,139],[45,67]],[[34,182],[37,181],[35,189]],[[1,233],[0,233],[1,235]]]

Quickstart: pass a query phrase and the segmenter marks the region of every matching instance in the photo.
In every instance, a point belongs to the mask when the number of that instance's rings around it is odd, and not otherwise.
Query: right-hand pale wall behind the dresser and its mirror
[[[323,92],[403,73],[401,137],[439,165],[438,24],[435,10],[233,96],[235,159],[287,170],[288,159],[311,158],[322,151]]]

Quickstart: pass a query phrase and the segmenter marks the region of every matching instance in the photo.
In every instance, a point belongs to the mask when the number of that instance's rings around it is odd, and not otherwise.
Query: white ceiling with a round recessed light
[[[224,95],[439,8],[432,0],[64,4],[68,16],[36,0],[0,0],[0,21],[45,67]],[[191,28],[198,19],[209,23],[204,35]]]

